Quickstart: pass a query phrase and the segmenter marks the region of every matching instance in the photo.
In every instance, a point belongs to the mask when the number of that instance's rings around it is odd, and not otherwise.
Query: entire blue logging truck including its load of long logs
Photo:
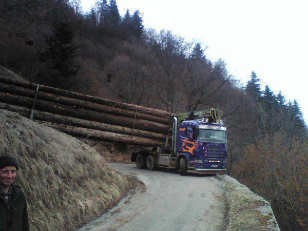
[[[137,168],[177,169],[181,175],[226,169],[226,127],[216,109],[175,115],[1,75],[0,109],[74,137],[145,147],[131,155]]]

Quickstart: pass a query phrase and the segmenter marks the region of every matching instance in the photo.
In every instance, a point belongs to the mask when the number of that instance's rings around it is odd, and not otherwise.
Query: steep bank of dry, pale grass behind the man
[[[73,229],[123,197],[131,181],[94,148],[17,113],[0,110],[0,154],[20,163],[31,230]]]

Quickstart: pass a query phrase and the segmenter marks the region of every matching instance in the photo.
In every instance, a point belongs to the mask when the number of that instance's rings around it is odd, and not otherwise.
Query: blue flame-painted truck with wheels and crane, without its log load
[[[192,111],[170,118],[170,145],[133,152],[131,162],[137,168],[154,170],[158,167],[197,174],[225,174],[227,137],[220,120],[221,111]]]

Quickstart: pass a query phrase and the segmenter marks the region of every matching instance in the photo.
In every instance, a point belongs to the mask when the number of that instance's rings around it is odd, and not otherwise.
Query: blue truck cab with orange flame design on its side
[[[187,169],[199,174],[224,174],[227,153],[226,127],[202,120],[183,121],[177,135],[177,156]]]

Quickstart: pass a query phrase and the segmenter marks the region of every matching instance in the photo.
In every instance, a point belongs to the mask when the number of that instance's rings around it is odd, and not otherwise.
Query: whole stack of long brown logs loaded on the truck
[[[92,97],[0,76],[0,109],[56,130],[95,140],[157,147],[169,130],[170,112]],[[34,112],[34,113],[33,113]]]

